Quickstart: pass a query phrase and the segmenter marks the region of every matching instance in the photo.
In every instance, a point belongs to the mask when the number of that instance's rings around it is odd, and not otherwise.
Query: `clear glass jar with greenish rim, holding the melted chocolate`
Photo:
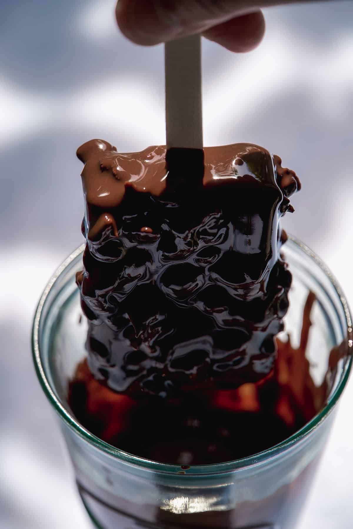
[[[75,284],[83,249],[71,254],[44,290],[33,324],[33,357],[44,393],[61,419],[77,486],[94,524],[101,529],[294,527],[352,364],[351,316],[331,272],[304,244],[288,239],[284,253],[293,286],[286,332],[292,342],[299,340],[305,299],[313,291],[317,303],[307,354],[316,382],[327,372],[330,351],[340,346],[330,394],[320,413],[264,452],[221,464],[180,467],[114,448],[87,431],[70,411],[68,381],[85,356],[87,332]]]

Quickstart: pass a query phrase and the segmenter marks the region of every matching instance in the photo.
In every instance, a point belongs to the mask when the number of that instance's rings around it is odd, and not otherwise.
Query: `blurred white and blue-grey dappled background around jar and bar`
[[[0,6],[3,336],[0,527],[88,529],[57,419],[35,378],[30,327],[51,273],[83,242],[78,145],[165,142],[163,49],[117,31],[114,0]],[[205,144],[249,141],[300,176],[288,231],[328,263],[353,305],[353,3],[265,11],[260,47],[203,42]],[[353,382],[299,529],[353,526]]]

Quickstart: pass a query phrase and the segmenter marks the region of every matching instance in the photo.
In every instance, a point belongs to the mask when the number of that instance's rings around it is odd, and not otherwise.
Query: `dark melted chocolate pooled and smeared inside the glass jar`
[[[266,450],[322,408],[330,374],[345,350],[332,350],[327,376],[316,387],[306,358],[314,302],[309,294],[298,348],[293,348],[289,336],[286,342],[277,340],[275,369],[256,384],[169,399],[133,399],[100,384],[84,360],[70,382],[69,404],[78,420],[104,441],[140,457],[180,464],[182,469]]]

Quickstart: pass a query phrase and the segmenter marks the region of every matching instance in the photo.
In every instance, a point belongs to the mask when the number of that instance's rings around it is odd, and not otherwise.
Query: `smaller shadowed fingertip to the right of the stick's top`
[[[265,19],[261,11],[237,16],[203,32],[206,39],[221,44],[227,50],[245,52],[256,48],[265,33]]]

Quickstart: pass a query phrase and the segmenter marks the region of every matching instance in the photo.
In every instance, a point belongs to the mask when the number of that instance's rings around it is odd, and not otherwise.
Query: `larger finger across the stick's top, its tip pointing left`
[[[130,40],[153,45],[204,33],[236,16],[258,12],[260,7],[295,1],[303,0],[119,0],[116,20]]]

